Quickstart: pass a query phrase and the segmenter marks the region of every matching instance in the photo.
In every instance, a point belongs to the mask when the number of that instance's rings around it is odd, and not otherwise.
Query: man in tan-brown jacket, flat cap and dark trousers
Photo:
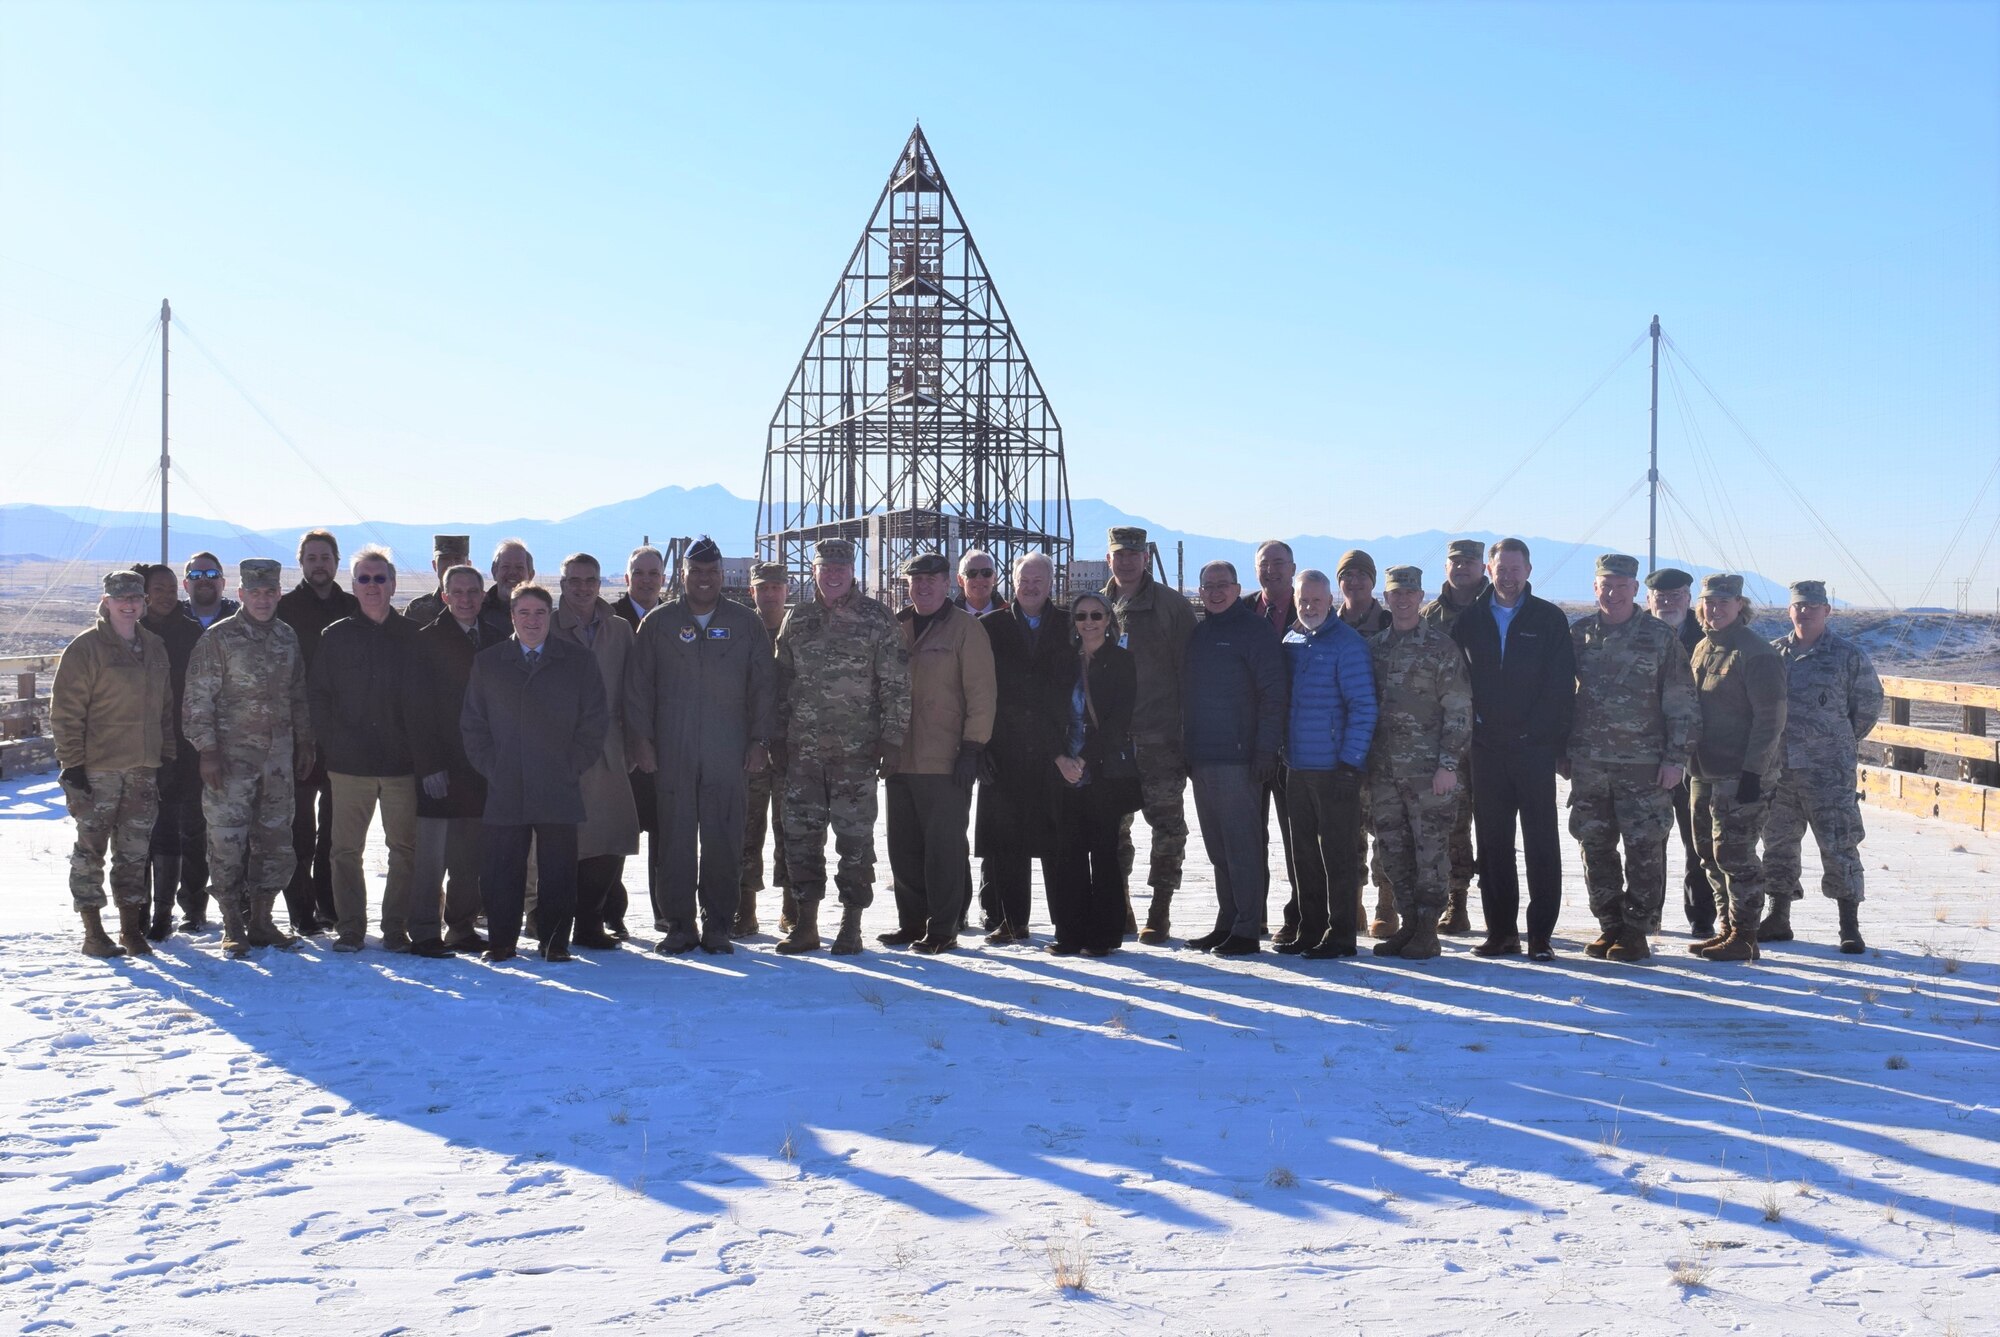
[[[936,552],[904,562],[910,606],[896,614],[910,650],[910,729],[888,781],[896,933],[876,941],[914,943],[926,955],[958,947],[972,781],[994,733],[992,640],[978,618],[946,602],[950,572]]]

